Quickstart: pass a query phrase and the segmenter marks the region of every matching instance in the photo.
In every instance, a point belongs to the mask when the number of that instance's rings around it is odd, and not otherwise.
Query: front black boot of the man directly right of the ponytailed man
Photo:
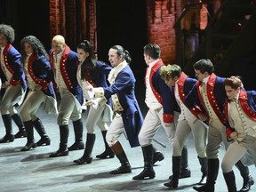
[[[142,147],[142,152],[144,157],[144,169],[139,175],[134,176],[132,180],[144,180],[145,178],[154,179],[156,177],[156,173],[153,169],[153,146]]]

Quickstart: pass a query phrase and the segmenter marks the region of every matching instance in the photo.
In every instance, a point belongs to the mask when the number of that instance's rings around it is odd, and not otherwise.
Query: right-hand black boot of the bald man
[[[84,149],[84,142],[83,142],[83,131],[84,126],[82,119],[78,119],[77,121],[73,122],[74,132],[75,132],[75,143],[71,145],[68,150],[80,150]]]

